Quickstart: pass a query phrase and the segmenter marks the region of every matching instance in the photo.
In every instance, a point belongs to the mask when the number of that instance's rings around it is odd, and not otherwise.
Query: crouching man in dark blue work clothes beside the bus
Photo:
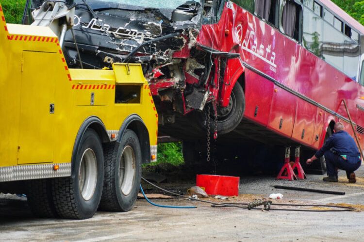
[[[324,181],[337,182],[337,169],[341,169],[347,172],[349,182],[355,183],[354,171],[361,165],[358,147],[354,139],[344,130],[342,123],[336,123],[334,131],[335,133],[306,163],[311,164],[312,161],[325,156],[328,177],[324,177]]]

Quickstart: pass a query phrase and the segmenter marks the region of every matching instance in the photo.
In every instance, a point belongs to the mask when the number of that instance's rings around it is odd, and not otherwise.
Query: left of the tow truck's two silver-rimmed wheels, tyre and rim
[[[104,158],[99,135],[93,129],[83,134],[74,176],[53,179],[53,200],[61,218],[91,218],[99,207],[104,178]]]

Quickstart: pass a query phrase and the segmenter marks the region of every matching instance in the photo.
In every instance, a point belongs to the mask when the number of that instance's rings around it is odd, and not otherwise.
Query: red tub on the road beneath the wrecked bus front
[[[205,189],[209,195],[237,196],[240,177],[197,175],[196,186]]]

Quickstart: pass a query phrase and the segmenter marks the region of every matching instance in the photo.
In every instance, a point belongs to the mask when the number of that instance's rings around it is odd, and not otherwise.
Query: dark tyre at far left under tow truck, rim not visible
[[[50,179],[29,180],[27,182],[27,190],[28,204],[36,217],[58,217],[52,199]]]

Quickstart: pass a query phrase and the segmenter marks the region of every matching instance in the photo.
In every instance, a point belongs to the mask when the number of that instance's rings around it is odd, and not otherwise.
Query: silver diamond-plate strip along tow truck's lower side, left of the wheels
[[[59,169],[53,170],[53,165],[59,165]],[[71,163],[0,167],[0,182],[69,176],[71,176]]]

